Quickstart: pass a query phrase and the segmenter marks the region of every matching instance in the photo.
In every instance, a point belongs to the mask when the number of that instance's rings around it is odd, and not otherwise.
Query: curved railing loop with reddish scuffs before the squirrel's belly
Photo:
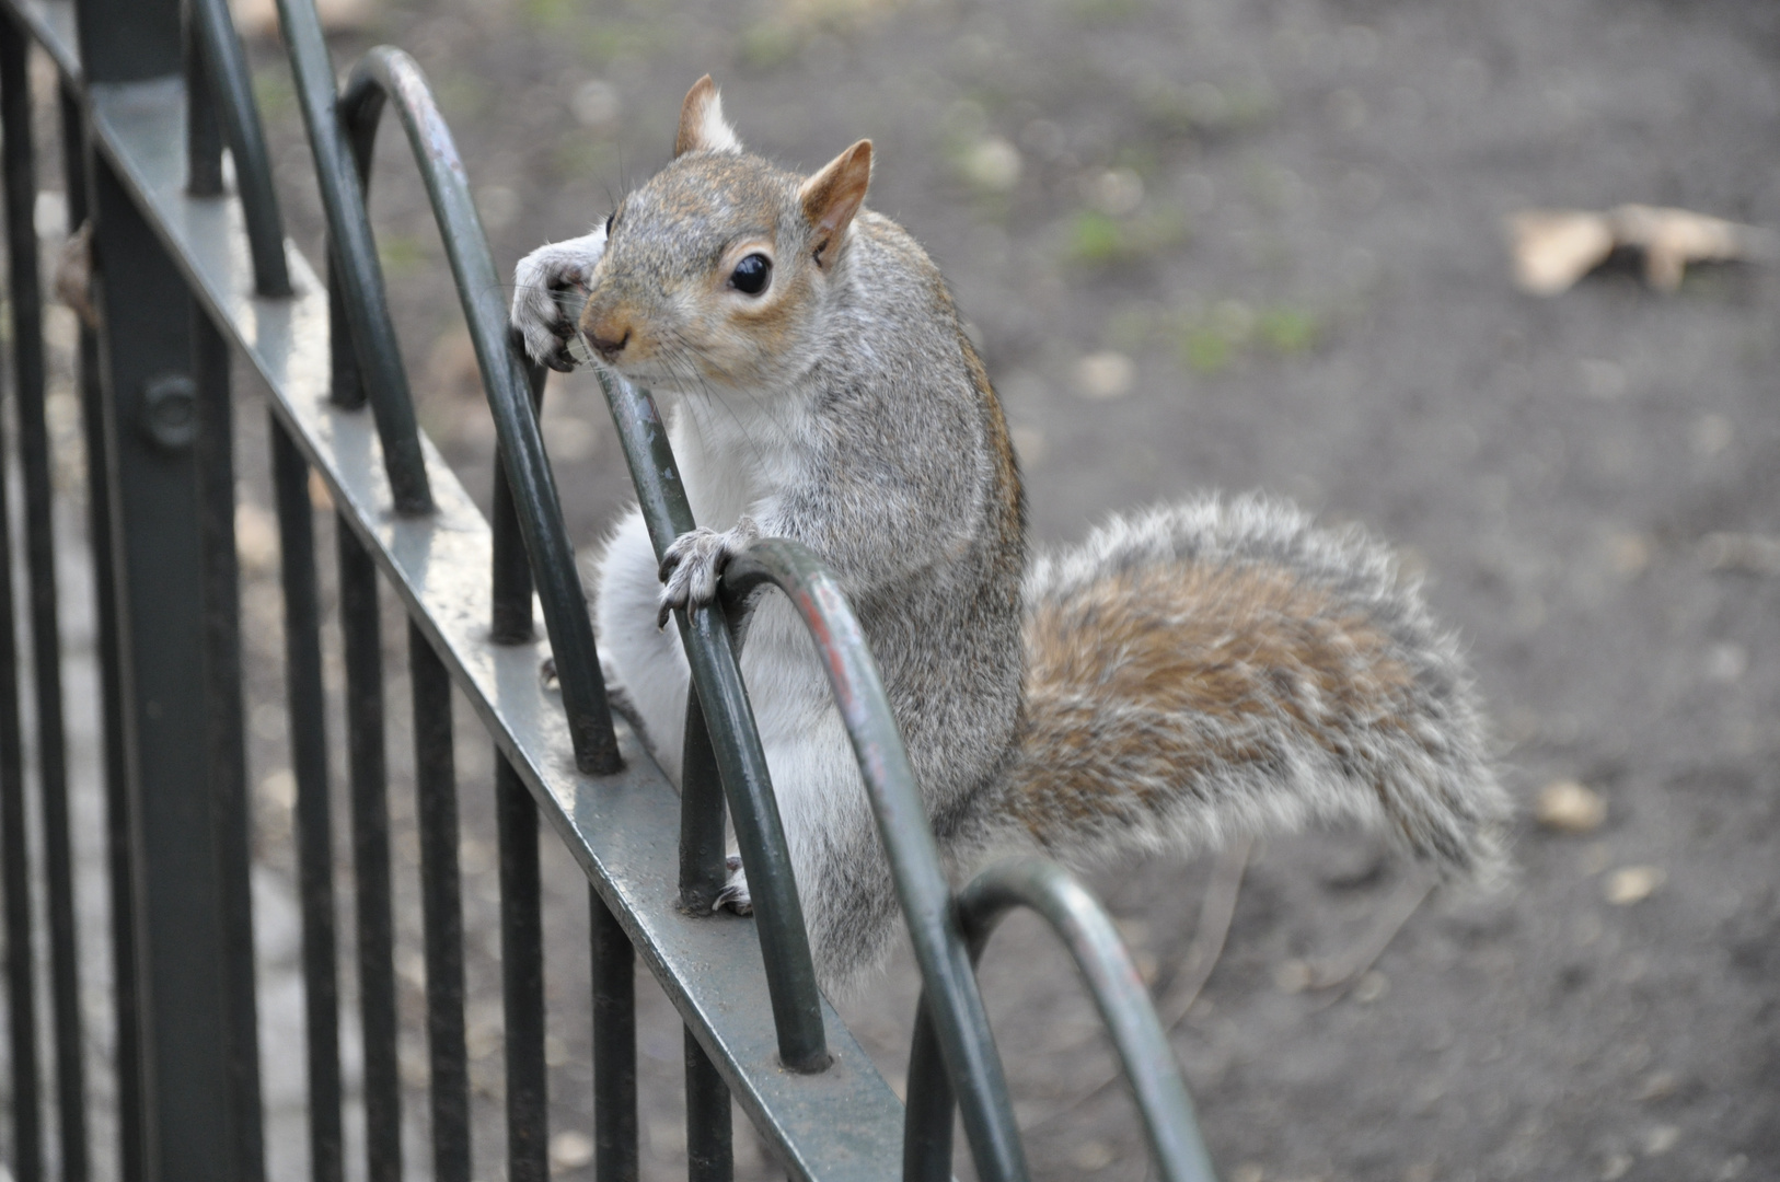
[[[764,584],[780,587],[790,598],[815,641],[835,691],[926,983],[924,1000],[933,1015],[927,1029],[936,1031],[934,1048],[945,1068],[942,1081],[949,1075],[963,1097],[965,1136],[970,1139],[977,1173],[993,1180],[1025,1178],[1020,1129],[1007,1100],[1000,1057],[952,908],[952,894],[940,867],[940,847],[865,632],[835,575],[794,541],[764,539],[730,561],[723,573],[723,595],[732,618],[740,616],[753,591]],[[951,1095],[947,1091],[947,1098]],[[952,1107],[947,1104],[943,1177],[951,1177],[951,1118]]]

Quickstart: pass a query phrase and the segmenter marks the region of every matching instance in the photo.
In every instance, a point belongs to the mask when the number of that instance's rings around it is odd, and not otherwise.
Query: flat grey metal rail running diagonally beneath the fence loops
[[[71,4],[5,4],[78,82]],[[125,178],[192,292],[265,379],[274,413],[322,474],[335,506],[783,1164],[801,1178],[899,1177],[902,1104],[833,1009],[822,1004],[833,1065],[787,1072],[753,924],[694,920],[676,908],[678,796],[635,737],[619,725],[625,771],[578,773],[561,703],[538,675],[545,643],[490,639],[491,532],[431,441],[422,447],[436,511],[397,513],[376,424],[329,402],[326,285],[287,244],[294,296],[256,296],[240,206],[187,194],[183,78],[94,85],[85,98],[96,150]],[[589,790],[595,783],[598,790]]]

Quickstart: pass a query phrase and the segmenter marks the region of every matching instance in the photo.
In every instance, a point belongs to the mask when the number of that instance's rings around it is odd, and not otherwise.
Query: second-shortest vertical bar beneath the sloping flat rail
[[[637,1182],[637,951],[587,886],[593,927],[593,1150],[596,1182]]]

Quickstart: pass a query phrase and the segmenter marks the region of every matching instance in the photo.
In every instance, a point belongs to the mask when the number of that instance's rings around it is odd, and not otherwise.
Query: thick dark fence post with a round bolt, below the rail
[[[233,1130],[258,1113],[233,1086],[231,1027],[219,1022],[230,1011],[222,965],[231,952],[206,783],[190,297],[103,157],[94,157],[93,194],[109,344],[101,356],[128,703],[146,1170],[153,1178],[221,1182],[246,1168]]]

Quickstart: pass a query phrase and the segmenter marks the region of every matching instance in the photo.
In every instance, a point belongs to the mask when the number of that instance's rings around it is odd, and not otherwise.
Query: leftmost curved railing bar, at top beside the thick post
[[[285,221],[272,187],[272,160],[265,150],[253,77],[240,48],[240,36],[228,12],[228,0],[189,0],[190,21],[203,50],[210,85],[222,107],[222,134],[235,157],[235,189],[247,223],[255,288],[260,296],[290,296],[285,265]]]

